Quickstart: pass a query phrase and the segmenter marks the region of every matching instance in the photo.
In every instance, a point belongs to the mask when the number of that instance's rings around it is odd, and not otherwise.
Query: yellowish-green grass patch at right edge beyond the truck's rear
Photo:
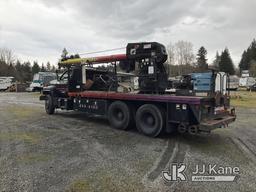
[[[237,91],[231,93],[231,105],[235,107],[256,107],[256,92]]]

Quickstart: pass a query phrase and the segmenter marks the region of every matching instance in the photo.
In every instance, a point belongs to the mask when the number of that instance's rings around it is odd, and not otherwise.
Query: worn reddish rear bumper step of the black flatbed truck
[[[228,125],[236,120],[235,109],[232,109],[229,114],[216,119],[207,119],[199,125],[200,131],[211,131],[213,129],[228,127]]]

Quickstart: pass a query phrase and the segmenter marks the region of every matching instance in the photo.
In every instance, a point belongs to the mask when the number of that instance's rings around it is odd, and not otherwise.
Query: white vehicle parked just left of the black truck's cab
[[[33,81],[30,84],[27,91],[41,91],[43,87],[48,86],[51,81],[56,80],[57,76],[52,72],[39,72],[33,77]]]

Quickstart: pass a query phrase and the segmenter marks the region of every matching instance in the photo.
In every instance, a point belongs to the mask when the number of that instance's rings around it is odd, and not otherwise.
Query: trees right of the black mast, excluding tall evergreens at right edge
[[[236,73],[231,55],[228,48],[221,54],[217,52],[213,63],[207,59],[207,50],[204,46],[200,47],[195,55],[193,44],[188,41],[178,41],[167,46],[168,51],[168,72],[170,76],[188,74],[192,72],[203,72],[208,69],[216,69],[234,75]]]

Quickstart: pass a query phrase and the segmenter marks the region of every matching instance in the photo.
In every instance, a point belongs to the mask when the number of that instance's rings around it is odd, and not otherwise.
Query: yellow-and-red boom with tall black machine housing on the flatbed
[[[157,42],[129,43],[126,54],[80,58],[79,55],[62,56],[59,67],[72,68],[82,65],[103,63],[118,64],[127,73],[134,72],[138,77],[140,92],[164,92],[168,77],[164,67],[167,60],[165,47]]]

